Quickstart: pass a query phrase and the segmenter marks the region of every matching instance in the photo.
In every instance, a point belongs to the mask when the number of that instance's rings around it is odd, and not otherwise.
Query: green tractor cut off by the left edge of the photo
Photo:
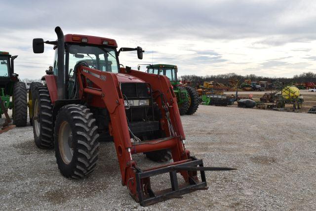
[[[4,114],[6,123],[10,123],[7,110],[12,109],[13,124],[23,127],[27,122],[27,91],[26,84],[20,82],[19,75],[14,73],[16,57],[0,51],[0,115]]]

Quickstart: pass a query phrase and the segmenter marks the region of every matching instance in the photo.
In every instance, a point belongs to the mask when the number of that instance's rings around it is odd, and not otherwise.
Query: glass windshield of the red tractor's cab
[[[69,53],[69,75],[74,74],[73,70],[80,61],[86,62],[90,68],[118,73],[117,51],[114,48],[103,46],[80,46],[70,44]]]

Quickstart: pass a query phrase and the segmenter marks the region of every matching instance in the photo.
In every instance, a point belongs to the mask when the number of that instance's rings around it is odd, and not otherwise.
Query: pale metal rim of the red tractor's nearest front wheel
[[[61,158],[66,164],[69,164],[73,159],[74,145],[71,128],[68,122],[66,121],[64,121],[59,127],[58,145]]]

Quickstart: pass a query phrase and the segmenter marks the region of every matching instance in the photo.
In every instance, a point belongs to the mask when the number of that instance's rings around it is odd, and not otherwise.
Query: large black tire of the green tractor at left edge
[[[26,126],[28,119],[27,90],[24,82],[15,82],[13,87],[13,124]]]

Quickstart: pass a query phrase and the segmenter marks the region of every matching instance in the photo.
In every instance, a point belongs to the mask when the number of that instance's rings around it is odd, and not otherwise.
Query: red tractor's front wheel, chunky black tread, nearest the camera
[[[67,178],[79,179],[97,165],[99,134],[93,114],[85,106],[62,107],[55,121],[54,147],[58,169]]]

